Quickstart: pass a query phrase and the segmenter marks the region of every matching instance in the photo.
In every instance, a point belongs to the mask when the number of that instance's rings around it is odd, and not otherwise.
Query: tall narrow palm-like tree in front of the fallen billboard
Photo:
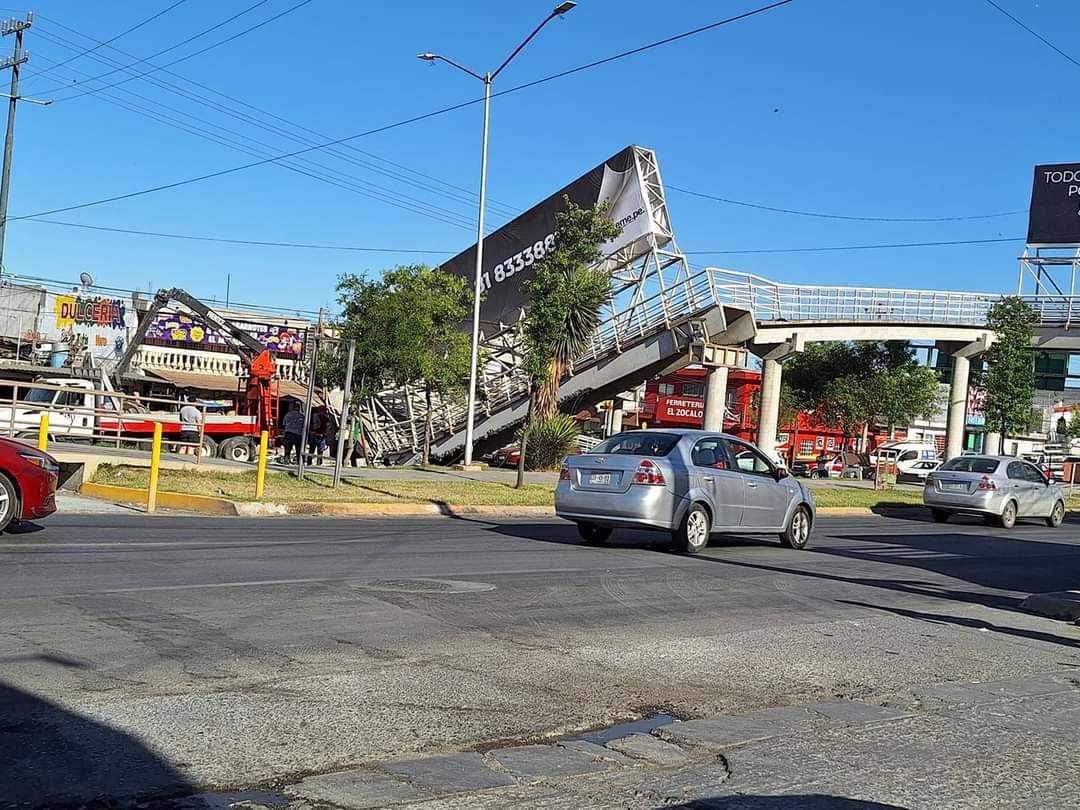
[[[532,278],[523,285],[529,296],[525,314],[523,369],[529,404],[525,427],[518,433],[521,458],[517,486],[525,483],[526,449],[534,424],[552,426],[558,410],[558,387],[566,369],[585,348],[599,324],[600,307],[611,281],[594,267],[603,258],[600,246],[619,235],[611,207],[602,203],[583,208],[569,197],[566,211],[555,215],[555,246],[534,265]]]

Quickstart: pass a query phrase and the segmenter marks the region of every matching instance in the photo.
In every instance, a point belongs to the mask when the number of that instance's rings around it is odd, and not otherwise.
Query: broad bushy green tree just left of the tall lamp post
[[[407,265],[387,271],[379,281],[345,275],[338,296],[341,338],[356,340],[356,395],[374,393],[387,381],[423,390],[427,464],[433,394],[448,396],[467,387],[471,346],[461,324],[472,309],[470,285],[424,265]]]

